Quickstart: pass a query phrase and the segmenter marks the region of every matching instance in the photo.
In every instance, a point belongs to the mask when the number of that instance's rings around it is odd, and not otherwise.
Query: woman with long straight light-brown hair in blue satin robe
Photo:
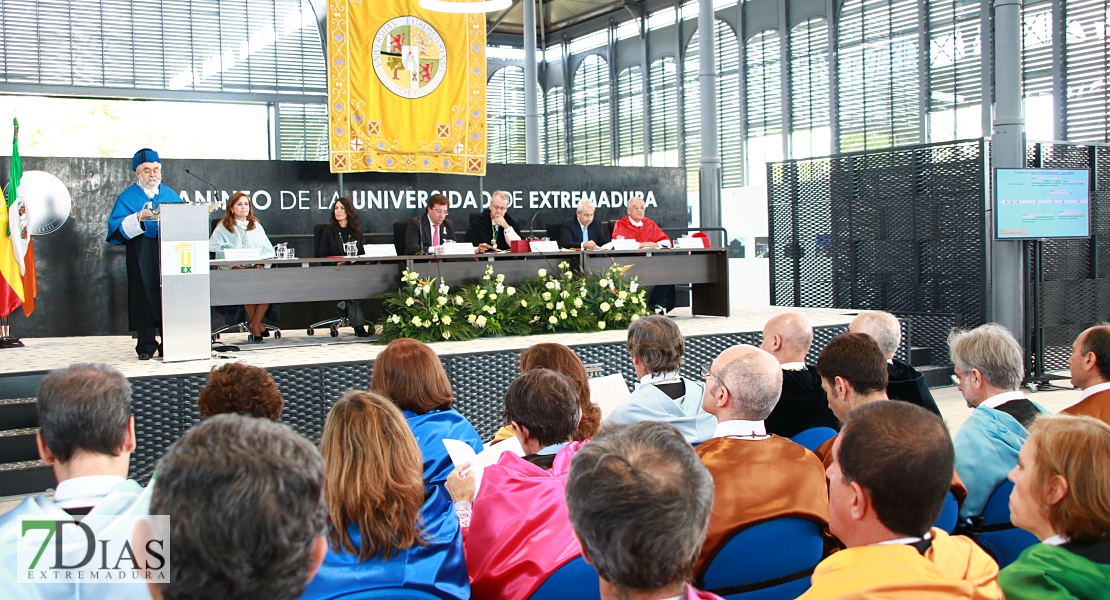
[[[425,497],[420,448],[389,398],[344,394],[320,451],[327,556],[302,599],[382,588],[470,598],[458,519],[438,487]]]

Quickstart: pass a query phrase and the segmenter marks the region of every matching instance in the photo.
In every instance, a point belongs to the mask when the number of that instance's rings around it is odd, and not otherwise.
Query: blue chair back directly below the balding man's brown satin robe
[[[699,587],[726,600],[793,600],[809,589],[824,550],[821,526],[809,519],[753,525],[717,551]]]

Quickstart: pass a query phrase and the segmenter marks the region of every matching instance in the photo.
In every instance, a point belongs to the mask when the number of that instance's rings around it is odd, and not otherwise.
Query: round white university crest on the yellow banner
[[[447,72],[447,47],[435,29],[415,17],[390,19],[374,35],[374,72],[401,98],[424,98]]]

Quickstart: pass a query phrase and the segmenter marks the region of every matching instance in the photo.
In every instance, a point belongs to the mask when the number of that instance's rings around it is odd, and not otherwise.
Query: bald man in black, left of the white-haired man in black
[[[778,360],[783,370],[783,394],[767,417],[767,431],[794,437],[814,427],[839,427],[821,389],[821,378],[806,355],[814,343],[814,328],[799,313],[775,315],[764,325],[759,346]]]

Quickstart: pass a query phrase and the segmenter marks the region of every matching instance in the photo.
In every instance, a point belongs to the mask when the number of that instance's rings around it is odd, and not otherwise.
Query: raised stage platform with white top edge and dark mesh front
[[[697,378],[703,365],[735,344],[759,344],[764,323],[785,311],[805,314],[814,325],[810,360],[833,336],[847,330],[858,313],[850,309],[749,307],[730,317],[692,316],[676,311],[673,318],[686,336],[683,374]],[[685,313],[685,314],[683,314]],[[908,355],[910,327],[904,327],[901,356]],[[332,404],[349,389],[365,389],[377,353],[384,346],[350,333],[339,337],[309,336],[304,330],[284,330],[281,339],[246,343],[245,334],[223,335],[221,343],[239,344],[241,350],[209,360],[163,363],[140,362],[134,340],[125,336],[29,338],[26,347],[0,350],[0,446],[11,443],[12,452],[0,451],[0,496],[51,487],[53,476],[36,460],[33,433],[38,425],[34,400],[38,385],[50,369],[74,362],[109,363],[128,376],[132,387],[138,448],[131,457],[131,477],[145,484],[167,447],[200,420],[196,397],[208,372],[229,360],[242,360],[270,370],[285,398],[282,421],[312,439],[320,440]],[[521,350],[541,342],[566,344],[594,373],[620,373],[629,386],[635,382],[625,347],[626,332],[551,334],[480,338],[471,342],[432,344],[443,360],[455,393],[454,407],[474,424],[483,439],[492,439],[502,423],[502,398],[519,375]],[[6,411],[23,415],[18,427]],[[8,421],[8,424],[3,423]],[[18,437],[26,438],[20,446]],[[7,440],[3,438],[8,437]],[[29,444],[26,441],[30,441]],[[20,449],[21,448],[21,449]],[[0,447],[2,450],[2,447]],[[19,485],[12,487],[13,482]],[[14,489],[22,491],[13,491]]]

